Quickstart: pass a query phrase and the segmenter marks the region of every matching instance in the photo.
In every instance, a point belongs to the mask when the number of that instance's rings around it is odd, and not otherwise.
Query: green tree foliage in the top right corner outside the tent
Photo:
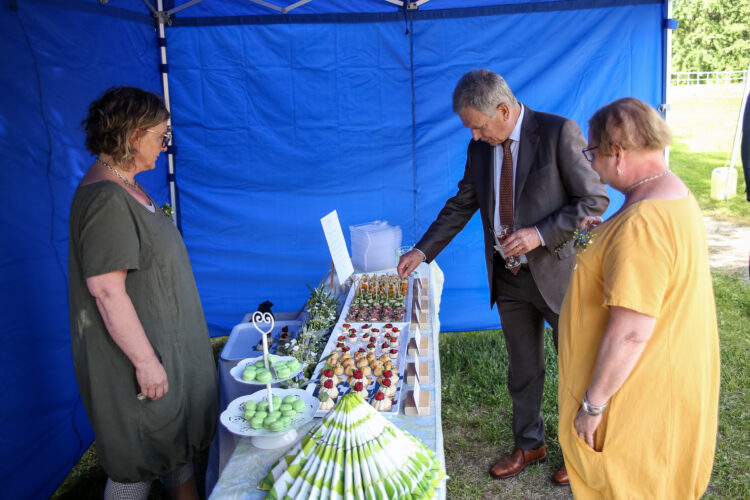
[[[750,1],[675,0],[673,71],[739,71],[750,62]]]

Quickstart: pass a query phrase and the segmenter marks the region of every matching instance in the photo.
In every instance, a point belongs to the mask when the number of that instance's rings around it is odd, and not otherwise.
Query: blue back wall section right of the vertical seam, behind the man
[[[461,75],[492,69],[526,105],[567,116],[586,134],[591,114],[616,98],[636,96],[654,107],[663,102],[662,16],[661,5],[642,5],[415,22],[418,233],[463,176],[471,136],[450,100]],[[622,195],[609,195],[605,216],[622,204]],[[499,327],[489,309],[478,214],[437,261],[446,280],[441,329]]]

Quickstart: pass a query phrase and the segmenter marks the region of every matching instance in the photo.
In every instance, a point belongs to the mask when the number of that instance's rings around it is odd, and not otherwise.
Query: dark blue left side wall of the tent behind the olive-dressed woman
[[[0,497],[47,498],[93,439],[67,300],[68,211],[93,159],[79,124],[106,88],[161,92],[161,83],[148,25],[25,3],[2,9]],[[163,164],[140,181],[167,201]]]

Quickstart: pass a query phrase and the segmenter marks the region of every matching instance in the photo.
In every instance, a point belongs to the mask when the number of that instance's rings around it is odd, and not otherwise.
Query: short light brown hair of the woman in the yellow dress
[[[599,108],[589,119],[589,134],[599,152],[612,156],[612,146],[631,150],[662,150],[672,132],[654,108],[634,97],[624,97]]]

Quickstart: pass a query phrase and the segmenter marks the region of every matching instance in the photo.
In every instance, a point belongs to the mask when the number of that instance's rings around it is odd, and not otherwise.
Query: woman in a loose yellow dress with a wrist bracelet
[[[637,99],[589,121],[583,153],[625,202],[582,222],[588,244],[560,312],[559,438],[577,499],[698,498],[711,476],[713,288],[701,212],[666,165],[669,141]]]

